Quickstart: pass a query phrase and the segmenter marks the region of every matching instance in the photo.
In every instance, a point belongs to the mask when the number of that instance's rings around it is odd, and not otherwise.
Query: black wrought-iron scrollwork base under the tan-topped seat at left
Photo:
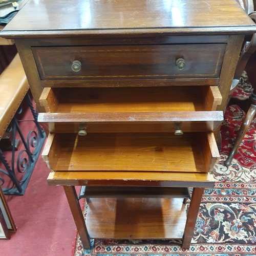
[[[40,124],[37,122],[38,114],[34,109],[29,93],[26,94],[25,100],[33,115],[33,119],[18,120],[17,115],[20,114],[19,111],[17,111],[13,117],[10,124],[13,131],[11,161],[6,160],[6,157],[0,148],[0,163],[2,162],[0,167],[0,184],[5,195],[24,195],[30,177],[33,173],[36,161],[40,155],[41,148],[44,145],[44,141],[46,139],[46,133],[44,129],[42,129]],[[27,139],[25,139],[23,132],[20,130],[19,123],[23,121],[29,121],[35,124],[33,125],[35,126],[35,130],[29,132]],[[24,150],[15,150],[16,135],[19,136],[20,147],[23,145],[25,148]]]

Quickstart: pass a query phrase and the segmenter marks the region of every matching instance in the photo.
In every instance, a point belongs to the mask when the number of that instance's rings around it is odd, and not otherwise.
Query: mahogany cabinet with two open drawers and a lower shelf
[[[48,183],[65,188],[84,248],[90,238],[189,248],[255,31],[235,0],[30,0],[6,26],[48,124]],[[86,186],[86,223],[74,186]]]

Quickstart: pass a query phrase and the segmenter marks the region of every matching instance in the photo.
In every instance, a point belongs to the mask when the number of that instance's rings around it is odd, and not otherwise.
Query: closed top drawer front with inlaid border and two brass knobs
[[[226,44],[184,44],[33,47],[32,51],[42,80],[92,80],[216,78],[225,48]]]

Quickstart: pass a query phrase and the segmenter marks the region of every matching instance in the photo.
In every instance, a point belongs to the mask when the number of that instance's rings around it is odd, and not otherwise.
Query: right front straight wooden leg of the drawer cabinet
[[[201,204],[202,196],[204,193],[203,187],[194,187],[191,197],[191,202],[189,204],[187,221],[183,235],[182,249],[189,249],[191,239],[193,237],[194,228],[196,226],[197,216],[199,207]]]

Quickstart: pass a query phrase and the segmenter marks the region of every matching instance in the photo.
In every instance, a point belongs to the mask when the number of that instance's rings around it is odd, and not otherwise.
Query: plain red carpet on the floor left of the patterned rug
[[[25,113],[25,116],[19,119],[31,120],[31,112],[27,110]],[[25,138],[33,126],[34,123],[30,121],[20,123]],[[23,148],[21,143],[19,150]],[[5,155],[6,159],[10,160],[11,153],[5,152]],[[63,188],[48,186],[49,172],[46,163],[39,156],[25,195],[6,196],[17,232],[12,234],[10,240],[0,241],[1,256],[74,254],[77,236],[75,223]],[[8,183],[8,178],[5,177],[5,180]]]

